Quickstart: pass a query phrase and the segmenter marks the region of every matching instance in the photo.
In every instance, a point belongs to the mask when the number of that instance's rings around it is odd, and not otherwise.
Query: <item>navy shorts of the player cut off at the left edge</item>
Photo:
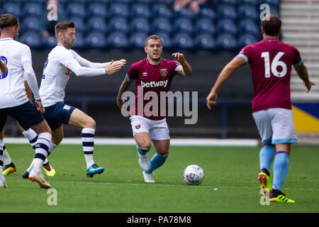
[[[44,120],[37,107],[30,101],[19,106],[0,109],[0,131],[4,130],[7,116],[15,118],[24,130],[36,126]]]

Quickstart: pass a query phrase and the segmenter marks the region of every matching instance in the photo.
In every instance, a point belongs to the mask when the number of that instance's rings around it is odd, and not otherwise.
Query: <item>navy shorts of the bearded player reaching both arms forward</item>
[[[74,111],[74,106],[69,106],[67,104],[57,102],[52,106],[45,107],[45,112],[43,116],[49,124],[52,131],[55,131],[57,128],[62,126],[62,123],[68,124],[69,118]]]

